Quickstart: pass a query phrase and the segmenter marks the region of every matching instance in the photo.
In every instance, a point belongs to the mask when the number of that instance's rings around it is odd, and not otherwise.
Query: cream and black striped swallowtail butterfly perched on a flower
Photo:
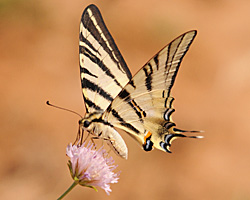
[[[151,58],[132,77],[99,9],[91,4],[82,14],[79,60],[86,107],[80,128],[104,139],[115,153],[127,159],[128,149],[115,128],[137,140],[145,151],[170,151],[171,143],[186,136],[171,116],[173,87],[180,63],[197,34],[186,32]]]

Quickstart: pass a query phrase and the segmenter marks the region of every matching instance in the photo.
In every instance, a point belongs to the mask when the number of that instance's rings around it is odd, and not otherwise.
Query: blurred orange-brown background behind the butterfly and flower
[[[65,199],[250,199],[250,1],[0,0],[0,199],[56,199],[72,183],[65,155],[84,114],[78,66],[83,9],[95,3],[132,74],[183,32],[198,30],[172,94],[174,120],[205,139],[129,159],[107,196],[77,186]]]

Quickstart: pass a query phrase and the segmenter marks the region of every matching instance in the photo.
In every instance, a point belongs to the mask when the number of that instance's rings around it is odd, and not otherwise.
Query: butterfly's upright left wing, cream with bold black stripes
[[[104,112],[129,82],[131,73],[95,5],[82,14],[79,55],[86,110]]]

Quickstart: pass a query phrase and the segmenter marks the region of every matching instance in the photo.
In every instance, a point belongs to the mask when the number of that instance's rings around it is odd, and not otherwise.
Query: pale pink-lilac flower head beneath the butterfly
[[[118,174],[113,172],[117,167],[112,157],[104,157],[106,151],[101,148],[95,150],[94,145],[84,146],[69,144],[66,149],[70,158],[68,163],[70,173],[75,182],[82,186],[101,187],[107,194],[111,192],[110,183],[118,182]],[[96,189],[95,189],[96,190]]]

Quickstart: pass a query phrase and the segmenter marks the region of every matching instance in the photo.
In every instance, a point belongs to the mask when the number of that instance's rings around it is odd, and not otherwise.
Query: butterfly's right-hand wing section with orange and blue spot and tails
[[[180,63],[196,36],[189,31],[157,53],[112,101],[103,119],[130,133],[149,151],[169,151],[176,137],[185,137],[175,127],[170,96]]]

